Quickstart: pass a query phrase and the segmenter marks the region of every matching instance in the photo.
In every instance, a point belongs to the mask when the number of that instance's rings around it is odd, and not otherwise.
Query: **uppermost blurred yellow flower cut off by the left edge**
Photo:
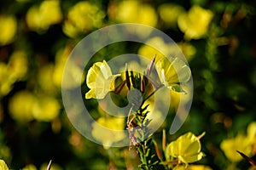
[[[7,45],[14,41],[17,30],[15,16],[0,15],[0,46]]]

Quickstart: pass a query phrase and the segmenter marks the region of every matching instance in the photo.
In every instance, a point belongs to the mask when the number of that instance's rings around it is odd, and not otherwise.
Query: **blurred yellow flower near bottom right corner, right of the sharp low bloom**
[[[230,161],[241,161],[242,157],[236,152],[241,151],[247,156],[251,155],[251,144],[247,136],[239,133],[236,138],[224,139],[220,144],[221,150]]]

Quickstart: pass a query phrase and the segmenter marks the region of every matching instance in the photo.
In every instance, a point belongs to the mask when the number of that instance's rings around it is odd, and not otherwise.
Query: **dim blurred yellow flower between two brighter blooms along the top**
[[[177,17],[185,13],[185,9],[175,3],[163,3],[158,8],[160,19],[166,26],[177,26]]]

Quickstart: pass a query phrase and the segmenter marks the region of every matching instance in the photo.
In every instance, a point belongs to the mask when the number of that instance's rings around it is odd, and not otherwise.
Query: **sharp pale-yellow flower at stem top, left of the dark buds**
[[[114,80],[119,75],[112,75],[108,63],[96,62],[87,73],[86,83],[90,91],[85,94],[85,99],[103,99],[108,92],[114,90]]]

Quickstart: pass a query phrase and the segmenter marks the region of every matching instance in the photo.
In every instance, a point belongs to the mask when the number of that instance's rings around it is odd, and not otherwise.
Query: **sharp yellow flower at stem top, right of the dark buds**
[[[171,89],[177,83],[188,82],[191,77],[189,66],[178,58],[161,58],[156,62],[155,69],[160,77],[160,82]]]

